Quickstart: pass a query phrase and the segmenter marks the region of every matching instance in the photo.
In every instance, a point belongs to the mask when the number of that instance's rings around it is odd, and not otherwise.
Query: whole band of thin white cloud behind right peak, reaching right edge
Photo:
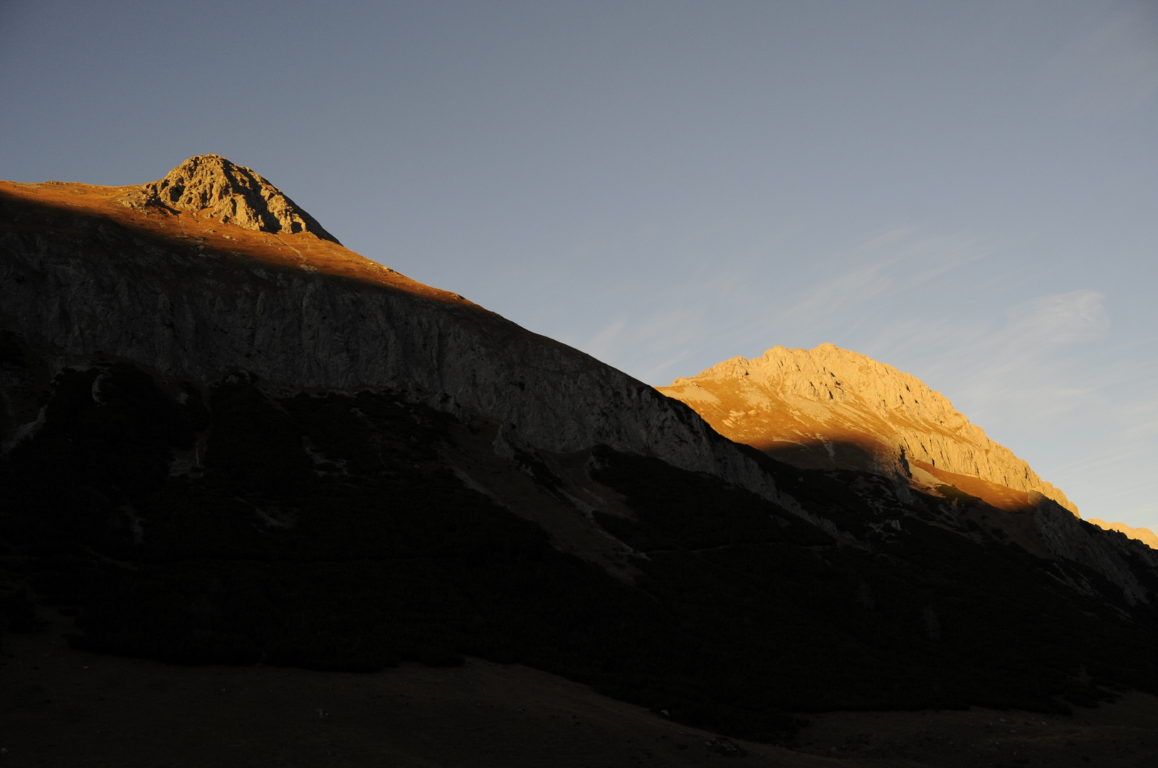
[[[576,341],[653,384],[777,344],[831,341],[940,390],[1084,515],[1158,525],[1153,467],[1143,466],[1158,449],[1158,337],[1109,344],[1112,305],[1091,287],[994,311],[1010,298],[998,253],[965,236],[896,228],[833,254],[811,283],[801,271],[780,280],[779,264],[705,265]],[[973,300],[954,282],[961,269],[982,291]],[[979,282],[985,273],[992,281]]]

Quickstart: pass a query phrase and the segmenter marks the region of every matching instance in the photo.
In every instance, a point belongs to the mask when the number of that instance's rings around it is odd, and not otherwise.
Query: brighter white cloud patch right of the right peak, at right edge
[[[1107,297],[1036,296],[991,318],[908,318],[864,352],[947,390],[958,409],[1029,460],[1083,515],[1158,530],[1158,360],[1109,346]]]

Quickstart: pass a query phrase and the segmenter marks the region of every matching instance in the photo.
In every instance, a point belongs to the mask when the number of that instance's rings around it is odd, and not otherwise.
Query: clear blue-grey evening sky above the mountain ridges
[[[0,178],[201,153],[650,384],[864,353],[1158,530],[1155,0],[0,0]]]

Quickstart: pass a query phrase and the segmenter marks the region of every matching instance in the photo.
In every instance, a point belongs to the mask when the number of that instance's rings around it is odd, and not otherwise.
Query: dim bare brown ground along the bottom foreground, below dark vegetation
[[[1072,716],[809,715],[787,749],[688,729],[516,664],[173,666],[74,650],[61,638],[69,629],[56,616],[44,632],[3,636],[0,768],[1158,765],[1158,697],[1139,693]]]

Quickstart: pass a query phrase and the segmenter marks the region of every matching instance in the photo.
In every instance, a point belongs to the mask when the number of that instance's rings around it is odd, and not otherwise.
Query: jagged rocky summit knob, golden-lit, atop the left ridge
[[[252,169],[221,155],[197,155],[156,182],[122,195],[126,208],[186,211],[223,224],[273,234],[310,232],[338,242],[317,220]]]

